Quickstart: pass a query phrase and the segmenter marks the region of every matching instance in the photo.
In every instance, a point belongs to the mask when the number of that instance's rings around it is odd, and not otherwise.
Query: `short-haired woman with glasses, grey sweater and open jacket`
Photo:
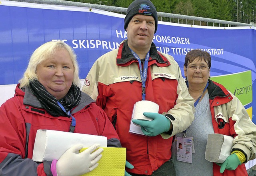
[[[190,139],[194,150],[190,155],[192,159],[182,158],[184,152],[189,153],[189,148],[183,144],[186,150],[180,150],[177,145],[172,145],[177,176],[248,175],[243,163],[256,158],[256,125],[238,98],[210,80],[210,68],[211,57],[206,51],[191,50],[185,57],[184,75],[196,111],[192,124],[176,135],[176,144]],[[213,133],[234,138],[230,156],[222,164],[205,160],[208,134]]]

